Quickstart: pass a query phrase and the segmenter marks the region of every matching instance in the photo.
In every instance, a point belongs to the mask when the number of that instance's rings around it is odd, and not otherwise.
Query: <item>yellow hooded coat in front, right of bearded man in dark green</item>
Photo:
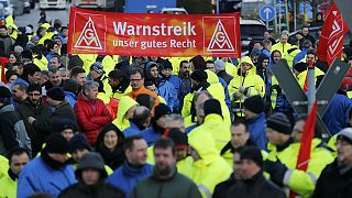
[[[188,143],[199,154],[200,158],[193,163],[194,180],[202,196],[211,197],[217,184],[226,180],[232,168],[220,156],[210,133],[188,134]]]

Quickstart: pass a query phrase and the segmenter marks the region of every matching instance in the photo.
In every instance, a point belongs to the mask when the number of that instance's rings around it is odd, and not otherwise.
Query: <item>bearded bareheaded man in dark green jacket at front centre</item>
[[[160,139],[154,145],[155,168],[151,176],[141,180],[131,197],[188,197],[200,198],[200,193],[188,177],[178,174],[176,147],[172,140]]]

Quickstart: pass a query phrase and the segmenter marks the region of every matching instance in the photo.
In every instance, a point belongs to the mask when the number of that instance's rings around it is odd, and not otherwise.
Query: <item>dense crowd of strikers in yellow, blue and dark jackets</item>
[[[241,58],[67,54],[68,29],[41,14],[0,26],[0,197],[349,197],[349,73],[297,168],[307,114],[271,67],[304,87],[329,65],[304,26],[264,33]],[[352,47],[342,61],[352,64]]]

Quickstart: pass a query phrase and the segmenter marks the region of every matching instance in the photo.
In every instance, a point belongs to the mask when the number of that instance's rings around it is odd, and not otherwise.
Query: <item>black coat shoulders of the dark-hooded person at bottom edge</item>
[[[62,191],[58,196],[59,198],[108,198],[108,197],[114,197],[114,198],[124,198],[123,193],[110,185],[106,184],[103,182],[98,183],[96,185],[85,185],[82,183],[74,184],[73,186],[69,186],[64,191]]]

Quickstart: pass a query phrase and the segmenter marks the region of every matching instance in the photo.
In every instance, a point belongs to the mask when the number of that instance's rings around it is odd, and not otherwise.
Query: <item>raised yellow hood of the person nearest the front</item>
[[[188,143],[194,147],[201,157],[202,164],[209,165],[219,156],[219,151],[216,147],[211,134],[207,132],[197,131],[189,134]]]

